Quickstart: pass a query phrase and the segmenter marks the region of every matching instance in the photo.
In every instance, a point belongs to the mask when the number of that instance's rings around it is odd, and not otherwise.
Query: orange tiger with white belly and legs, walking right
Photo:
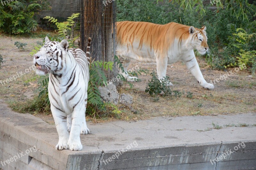
[[[194,49],[200,54],[209,50],[206,27],[198,29],[193,26],[171,22],[165,25],[149,22],[117,22],[117,56],[124,66],[120,73],[128,81],[136,81],[127,73],[131,59],[138,62],[156,63],[157,75],[161,81],[166,76],[168,64],[183,61],[188,70],[196,77],[201,86],[213,89],[207,83],[198,66]],[[172,86],[171,82],[168,85]]]

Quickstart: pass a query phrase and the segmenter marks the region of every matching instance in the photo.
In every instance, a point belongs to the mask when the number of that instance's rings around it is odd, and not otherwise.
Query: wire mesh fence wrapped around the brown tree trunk
[[[110,2],[110,3],[109,3]],[[72,38],[74,44],[86,50],[88,37],[92,38],[91,56],[94,60],[113,61],[116,53],[116,1],[73,0],[71,12],[80,13],[74,19]],[[116,77],[116,63],[112,71],[106,71],[108,80]]]

